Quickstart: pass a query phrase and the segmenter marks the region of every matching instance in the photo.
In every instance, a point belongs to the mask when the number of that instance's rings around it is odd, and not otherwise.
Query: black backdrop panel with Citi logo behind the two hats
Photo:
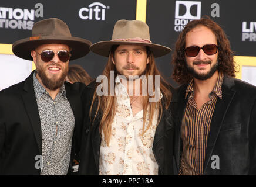
[[[52,17],[63,20],[69,26],[72,36],[88,39],[92,43],[111,40],[114,23],[117,20],[136,19],[136,2],[136,0],[1,1],[0,44],[12,44],[16,40],[31,37],[31,29],[35,22]],[[0,63],[2,61],[0,59]],[[82,65],[91,77],[96,78],[102,74],[106,62],[106,57],[89,53],[78,60],[70,61],[70,64]]]

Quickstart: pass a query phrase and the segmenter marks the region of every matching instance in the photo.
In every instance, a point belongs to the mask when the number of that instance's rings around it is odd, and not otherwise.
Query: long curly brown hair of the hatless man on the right
[[[218,44],[218,71],[223,72],[224,75],[235,77],[236,63],[233,58],[233,51],[230,48],[230,41],[221,27],[211,20],[208,16],[204,16],[199,20],[188,22],[184,30],[180,33],[176,41],[176,50],[173,53],[171,63],[174,66],[173,79],[174,81],[184,84],[190,82],[193,76],[188,73],[185,59],[185,41],[186,35],[198,25],[203,25],[211,29],[217,38]]]

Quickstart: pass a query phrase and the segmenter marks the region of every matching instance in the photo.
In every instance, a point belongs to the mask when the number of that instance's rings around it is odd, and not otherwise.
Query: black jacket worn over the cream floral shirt
[[[99,124],[102,115],[97,115],[95,122],[89,118],[90,105],[96,82],[86,87],[85,122],[82,132],[82,143],[80,149],[79,175],[99,175],[99,156],[101,137]],[[163,111],[160,123],[157,126],[153,141],[153,153],[159,165],[159,175],[173,175],[174,172],[174,120],[170,112],[174,110],[177,103],[177,95],[172,87],[173,93],[169,110]],[[93,105],[95,106],[95,105]],[[97,106],[97,104],[96,104]],[[92,114],[95,114],[96,107],[93,107]],[[92,115],[94,116],[94,115]]]

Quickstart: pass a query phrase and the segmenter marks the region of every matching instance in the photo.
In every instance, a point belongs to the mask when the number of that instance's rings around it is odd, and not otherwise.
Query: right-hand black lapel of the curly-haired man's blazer
[[[215,143],[220,133],[221,125],[223,124],[224,117],[227,113],[228,107],[232,99],[234,98],[235,91],[231,89],[231,86],[234,85],[234,79],[224,77],[222,85],[222,99],[218,98],[213,117],[210,125],[210,132],[207,138],[207,148],[206,148],[206,157],[204,159],[204,172],[211,160],[211,155],[215,147]]]

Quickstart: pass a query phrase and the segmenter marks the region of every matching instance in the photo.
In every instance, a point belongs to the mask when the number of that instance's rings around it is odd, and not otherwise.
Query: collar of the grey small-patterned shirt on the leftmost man
[[[36,71],[33,74],[33,85],[34,85],[36,99],[41,98],[43,93],[47,93],[46,89],[41,85],[41,83],[36,78]],[[64,97],[66,96],[66,89],[64,84],[62,84],[62,86],[60,87],[58,95],[62,95]],[[56,96],[56,98],[58,97],[58,95]]]

